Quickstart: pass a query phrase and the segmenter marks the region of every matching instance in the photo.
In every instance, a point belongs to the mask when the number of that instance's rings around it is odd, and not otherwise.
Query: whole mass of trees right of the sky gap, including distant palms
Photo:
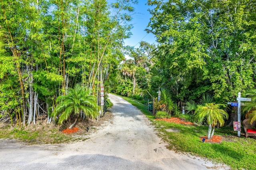
[[[179,107],[203,94],[215,103],[236,102],[238,92],[255,88],[256,11],[251,0],[148,0],[146,30],[158,44],[129,48],[117,92],[157,97],[168,89]],[[134,91],[135,84],[135,91]],[[255,105],[254,105],[255,106]],[[253,107],[254,107],[253,106]],[[231,125],[237,108],[228,111]]]

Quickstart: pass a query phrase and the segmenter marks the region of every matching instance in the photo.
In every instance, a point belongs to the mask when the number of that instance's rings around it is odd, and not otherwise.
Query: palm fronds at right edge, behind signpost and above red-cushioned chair
[[[250,124],[252,124],[256,121],[256,89],[247,91],[246,96],[250,97],[252,101],[247,102],[246,106],[242,107],[242,111],[246,113],[246,118],[248,118]]]

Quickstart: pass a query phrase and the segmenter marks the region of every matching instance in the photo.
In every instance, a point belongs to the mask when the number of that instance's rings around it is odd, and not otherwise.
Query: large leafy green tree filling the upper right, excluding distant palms
[[[255,2],[149,0],[155,6],[148,32],[160,45],[164,86],[178,100],[213,93],[218,102],[236,99],[254,87]],[[235,114],[231,116],[231,121]]]

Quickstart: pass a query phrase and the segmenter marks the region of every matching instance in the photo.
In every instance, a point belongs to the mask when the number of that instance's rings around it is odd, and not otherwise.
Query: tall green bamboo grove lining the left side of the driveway
[[[124,58],[136,3],[1,0],[0,118],[20,127],[40,117],[50,123],[57,97],[78,83],[99,105],[100,86]]]

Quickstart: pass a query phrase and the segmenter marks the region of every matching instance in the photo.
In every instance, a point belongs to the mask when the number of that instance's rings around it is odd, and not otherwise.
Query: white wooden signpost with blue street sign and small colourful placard
[[[252,101],[252,99],[241,97],[241,93],[239,92],[236,100],[238,101],[238,103],[228,102],[228,104],[231,106],[237,106],[237,122],[235,122],[234,125],[237,126],[236,127],[237,136],[240,137],[241,136],[241,105],[242,106],[246,105],[246,103],[241,103],[241,101]],[[239,128],[239,125],[240,125],[240,128]]]

